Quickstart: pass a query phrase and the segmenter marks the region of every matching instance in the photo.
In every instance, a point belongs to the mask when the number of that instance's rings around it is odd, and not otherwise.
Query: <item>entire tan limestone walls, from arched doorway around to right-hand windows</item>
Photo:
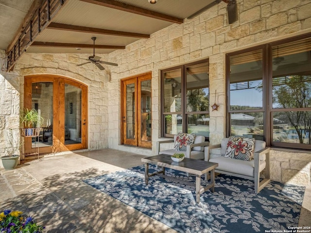
[[[94,68],[93,64],[76,66],[88,54],[24,53],[14,73],[6,74],[7,80],[17,87],[17,91],[12,91],[12,100],[20,101],[22,107],[24,75],[58,74],[78,80],[88,85],[88,148],[109,147],[152,155],[155,142],[160,140],[159,71],[209,58],[210,99],[215,99],[216,90],[216,102],[220,105],[218,111],[210,112],[210,143],[219,143],[225,136],[225,53],[311,32],[310,0],[237,0],[237,4],[239,20],[231,25],[227,24],[226,4],[220,2],[191,20],[185,19],[181,25],[173,24],[149,39],[132,43],[125,50],[99,54],[103,60],[119,64],[118,67],[107,67],[110,82],[104,82],[103,71]],[[153,148],[122,146],[120,80],[150,71]],[[20,84],[13,80],[20,80]],[[303,151],[272,150],[272,179],[310,185],[309,156]],[[291,158],[295,158],[294,163]]]

